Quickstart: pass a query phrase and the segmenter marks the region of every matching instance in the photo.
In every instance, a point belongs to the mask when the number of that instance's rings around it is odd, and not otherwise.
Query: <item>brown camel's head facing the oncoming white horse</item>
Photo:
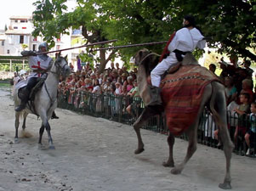
[[[134,56],[134,64],[141,67],[144,66],[147,75],[150,74],[158,64],[160,56],[156,53],[151,53],[150,50],[143,48],[138,51]]]

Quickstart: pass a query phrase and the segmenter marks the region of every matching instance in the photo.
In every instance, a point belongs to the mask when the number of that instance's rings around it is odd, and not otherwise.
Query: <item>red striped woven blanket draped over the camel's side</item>
[[[211,71],[200,65],[183,65],[161,81],[162,102],[167,126],[179,136],[196,120],[204,88],[211,81],[219,81]]]

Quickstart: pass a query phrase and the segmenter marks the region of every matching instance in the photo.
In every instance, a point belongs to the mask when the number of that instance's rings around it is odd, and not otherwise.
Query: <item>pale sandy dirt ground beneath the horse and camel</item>
[[[14,105],[9,94],[0,90],[0,191],[221,190],[222,150],[198,144],[185,170],[173,175],[162,166],[168,158],[167,136],[142,130],[145,152],[135,155],[132,126],[68,110],[56,110],[60,119],[49,121],[55,150],[37,149],[41,121],[35,115],[27,118],[31,138],[20,133],[20,143],[14,143]],[[43,143],[48,144],[47,133]],[[176,139],[176,163],[183,160],[186,146],[187,142]],[[231,176],[233,190],[255,190],[256,160],[233,154]]]

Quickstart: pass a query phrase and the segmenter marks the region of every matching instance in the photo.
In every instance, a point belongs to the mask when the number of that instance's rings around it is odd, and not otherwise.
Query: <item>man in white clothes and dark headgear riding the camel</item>
[[[203,40],[201,31],[196,28],[196,22],[193,16],[187,15],[183,20],[184,27],[177,31],[174,38],[168,44],[168,56],[162,59],[154,70],[151,71],[151,102],[147,107],[160,109],[162,108],[162,98],[160,96],[160,82],[162,74],[172,65],[181,62],[185,53],[193,52],[195,48],[203,49],[206,41]]]

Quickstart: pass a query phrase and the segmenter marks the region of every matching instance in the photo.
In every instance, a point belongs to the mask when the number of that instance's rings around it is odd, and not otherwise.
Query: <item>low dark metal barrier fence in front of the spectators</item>
[[[131,107],[130,113],[126,110],[128,105]],[[72,94],[69,92],[60,92],[58,107],[73,110],[83,115],[102,117],[128,125],[133,125],[134,121],[144,110],[143,101],[139,97],[130,98],[127,96],[115,96],[112,93],[96,94],[83,91]],[[164,119],[163,114],[151,117],[147,125],[143,128],[168,135],[168,128],[165,126]],[[245,155],[248,151],[245,134],[251,126],[248,116],[239,116],[233,111],[228,111],[227,120],[230,137],[236,146],[234,153]],[[197,130],[197,142],[209,147],[222,149],[221,141],[218,139],[217,129],[212,115],[207,109],[204,110]],[[185,134],[179,136],[179,138],[187,140]],[[252,134],[249,140],[251,149],[247,155],[256,157],[256,133]]]

